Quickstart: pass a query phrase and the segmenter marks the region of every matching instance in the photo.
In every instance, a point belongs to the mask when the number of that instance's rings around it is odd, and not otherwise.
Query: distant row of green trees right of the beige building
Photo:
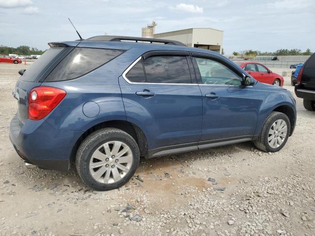
[[[275,52],[260,52],[257,50],[244,50],[240,52],[233,52],[234,56],[244,56],[244,55],[256,55],[256,56],[310,56],[313,53],[311,49],[307,49],[302,52],[301,49],[279,49]]]

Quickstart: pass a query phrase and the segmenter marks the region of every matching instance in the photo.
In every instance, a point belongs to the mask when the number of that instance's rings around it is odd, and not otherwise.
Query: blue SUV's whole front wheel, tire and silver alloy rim
[[[272,112],[265,121],[258,139],[254,141],[257,148],[267,152],[282,149],[290,134],[290,120],[281,112]]]

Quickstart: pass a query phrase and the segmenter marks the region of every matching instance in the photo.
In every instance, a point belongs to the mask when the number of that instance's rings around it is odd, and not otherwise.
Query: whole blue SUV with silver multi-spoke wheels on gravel
[[[140,156],[246,141],[274,152],[293,133],[292,94],[218,53],[107,35],[49,45],[19,71],[13,92],[10,140],[28,168],[75,163],[87,185],[110,190],[132,177]]]

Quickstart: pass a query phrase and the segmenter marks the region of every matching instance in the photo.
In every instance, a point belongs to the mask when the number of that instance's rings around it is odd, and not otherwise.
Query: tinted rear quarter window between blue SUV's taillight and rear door
[[[48,75],[45,82],[72,80],[122,54],[123,50],[74,48]]]

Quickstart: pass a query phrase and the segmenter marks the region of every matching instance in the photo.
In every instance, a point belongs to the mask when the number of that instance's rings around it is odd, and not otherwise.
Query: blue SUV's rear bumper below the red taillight
[[[18,155],[41,169],[68,172],[70,155],[83,131],[59,131],[45,120],[28,119],[22,125],[17,116],[10,123],[10,141]]]

